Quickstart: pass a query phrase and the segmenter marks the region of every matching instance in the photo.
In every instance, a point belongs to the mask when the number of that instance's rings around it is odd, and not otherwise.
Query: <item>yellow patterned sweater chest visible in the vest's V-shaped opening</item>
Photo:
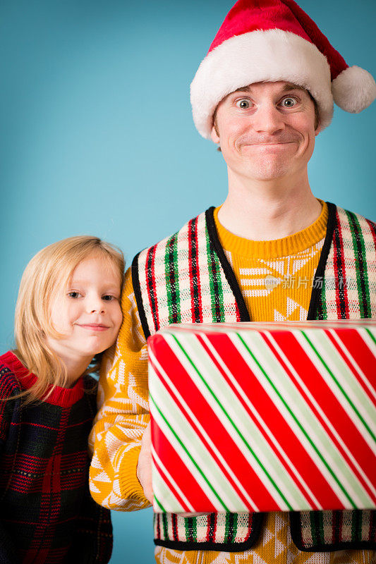
[[[313,278],[327,230],[328,209],[303,231],[272,241],[251,241],[214,221],[252,321],[307,319]]]

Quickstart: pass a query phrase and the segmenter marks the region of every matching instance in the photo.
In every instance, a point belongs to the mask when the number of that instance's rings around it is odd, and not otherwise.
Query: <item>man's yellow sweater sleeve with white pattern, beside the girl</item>
[[[102,360],[98,412],[90,434],[90,492],[100,505],[131,511],[150,505],[136,475],[142,434],[150,421],[147,345],[142,332],[131,269],[121,297],[123,323],[116,345]]]

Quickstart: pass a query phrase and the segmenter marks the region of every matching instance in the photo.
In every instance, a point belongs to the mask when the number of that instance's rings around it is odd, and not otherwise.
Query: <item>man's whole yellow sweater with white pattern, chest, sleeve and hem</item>
[[[299,233],[274,241],[237,237],[219,223],[218,208],[215,210],[219,240],[253,321],[307,319],[312,281],[327,226],[327,205],[322,204],[322,212],[315,223]],[[135,304],[131,269],[126,273],[121,307],[123,324],[116,346],[104,356],[99,379],[99,412],[90,435],[94,452],[90,490],[97,503],[110,509],[129,511],[149,505],[136,477],[136,468],[142,433],[150,419],[147,345]],[[183,553],[158,546],[155,557],[157,562],[164,564],[376,562],[374,551],[298,551],[291,541],[288,513],[269,513],[257,544],[242,553]]]

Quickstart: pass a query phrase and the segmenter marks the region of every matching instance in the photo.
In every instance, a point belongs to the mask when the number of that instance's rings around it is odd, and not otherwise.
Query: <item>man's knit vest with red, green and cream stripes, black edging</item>
[[[334,204],[328,208],[308,319],[376,317],[376,225]],[[213,211],[135,257],[133,288],[145,338],[172,323],[251,321]],[[182,550],[243,551],[261,525],[260,513],[162,513],[154,515],[154,542]],[[304,551],[376,548],[376,512],[291,513],[291,535]]]

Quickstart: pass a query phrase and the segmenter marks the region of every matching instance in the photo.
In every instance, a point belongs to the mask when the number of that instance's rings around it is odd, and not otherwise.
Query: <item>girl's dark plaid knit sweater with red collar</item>
[[[107,563],[109,510],[88,487],[96,395],[85,391],[96,382],[85,376],[23,407],[12,396],[36,377],[13,353],[0,356],[0,563]]]

